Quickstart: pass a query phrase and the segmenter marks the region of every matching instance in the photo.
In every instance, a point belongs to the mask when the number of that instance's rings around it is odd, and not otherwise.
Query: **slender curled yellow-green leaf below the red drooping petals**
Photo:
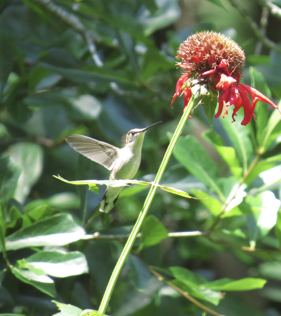
[[[222,138],[213,131],[203,132],[202,136],[212,144],[218,154],[227,163],[230,172],[237,178],[241,177],[243,170],[236,156],[235,149],[233,147],[224,146]]]

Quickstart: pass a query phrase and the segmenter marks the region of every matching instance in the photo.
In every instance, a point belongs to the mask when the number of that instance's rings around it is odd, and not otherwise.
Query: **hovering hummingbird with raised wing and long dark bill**
[[[140,167],[141,148],[145,132],[158,123],[161,122],[154,123],[146,128],[130,130],[126,138],[124,135],[122,148],[78,134],[70,135],[65,140],[80,154],[111,170],[110,180],[133,179]],[[99,210],[108,213],[113,208],[123,188],[124,186],[108,186]]]

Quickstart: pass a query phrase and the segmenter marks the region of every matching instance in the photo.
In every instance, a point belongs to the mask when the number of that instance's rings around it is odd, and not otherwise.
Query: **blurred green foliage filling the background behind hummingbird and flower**
[[[260,5],[240,4],[259,23]],[[124,189],[114,209],[99,214],[103,186],[97,194],[53,177],[109,176],[65,137],[120,146],[130,129],[162,120],[146,134],[136,175],[153,181],[182,115],[183,100],[174,109],[170,102],[183,40],[200,30],[236,40],[247,58],[243,82],[276,103],[280,55],[256,51],[259,40],[226,0],[0,5],[0,311],[99,315],[147,187]],[[268,17],[275,42],[280,26]],[[257,122],[241,126],[241,113],[233,124],[228,116],[210,130],[203,108],[194,110],[161,184],[204,200],[158,190],[107,314],[202,315],[182,291],[227,316],[281,315],[280,115],[260,102]]]

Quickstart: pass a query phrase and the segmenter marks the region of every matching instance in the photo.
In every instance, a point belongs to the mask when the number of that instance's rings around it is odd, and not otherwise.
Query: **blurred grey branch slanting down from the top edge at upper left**
[[[80,33],[81,36],[86,40],[88,49],[92,55],[94,63],[102,67],[103,62],[100,59],[96,46],[93,42],[93,32],[88,30],[78,19],[78,17],[74,14],[70,14],[67,10],[59,7],[51,0],[33,0],[36,3],[39,3],[42,7],[44,7],[48,12],[57,16],[61,21],[66,23],[68,26],[72,27],[76,32]]]

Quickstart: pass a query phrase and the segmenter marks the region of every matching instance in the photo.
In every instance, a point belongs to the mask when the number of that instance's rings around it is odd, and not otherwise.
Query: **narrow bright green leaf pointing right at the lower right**
[[[216,281],[208,282],[204,285],[209,289],[219,291],[249,291],[254,289],[262,289],[265,284],[266,280],[264,279],[247,277],[240,280],[223,278]]]

